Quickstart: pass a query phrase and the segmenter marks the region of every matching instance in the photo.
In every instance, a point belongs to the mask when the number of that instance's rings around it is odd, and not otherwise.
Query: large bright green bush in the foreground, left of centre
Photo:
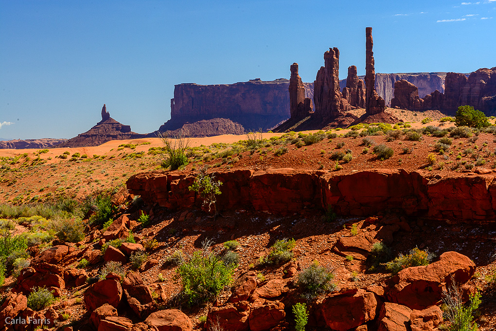
[[[194,252],[177,269],[189,305],[213,300],[232,281],[235,266],[225,265],[209,251],[208,244],[204,242],[203,249]]]

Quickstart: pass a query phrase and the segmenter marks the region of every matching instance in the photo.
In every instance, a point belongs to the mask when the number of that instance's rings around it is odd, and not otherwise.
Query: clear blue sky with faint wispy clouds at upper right
[[[100,121],[147,133],[174,85],[313,81],[340,50],[340,77],[496,66],[496,0],[0,0],[0,137],[70,138]]]

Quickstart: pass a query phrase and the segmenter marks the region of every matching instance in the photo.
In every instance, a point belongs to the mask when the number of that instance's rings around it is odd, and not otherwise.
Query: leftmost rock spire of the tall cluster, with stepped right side
[[[302,118],[313,113],[313,103],[310,98],[305,98],[305,85],[298,74],[298,64],[291,65],[291,78],[289,79],[289,105],[291,118]]]

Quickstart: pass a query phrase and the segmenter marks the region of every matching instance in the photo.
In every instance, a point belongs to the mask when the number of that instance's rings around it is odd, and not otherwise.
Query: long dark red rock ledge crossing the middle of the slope
[[[254,209],[275,214],[333,209],[341,215],[372,215],[385,209],[407,215],[464,222],[494,222],[494,174],[432,178],[403,169],[375,169],[348,175],[324,171],[271,169],[215,173],[224,183],[217,209]],[[202,200],[189,191],[194,176],[150,172],[127,181],[130,193],[147,204],[168,208],[200,207]],[[361,183],[360,190],[356,183]]]

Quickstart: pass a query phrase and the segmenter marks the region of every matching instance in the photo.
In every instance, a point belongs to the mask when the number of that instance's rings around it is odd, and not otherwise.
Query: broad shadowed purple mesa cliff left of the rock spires
[[[304,83],[313,98],[313,84]],[[289,80],[276,79],[220,85],[179,84],[171,100],[171,120],[159,131],[179,129],[186,122],[226,118],[247,130],[269,129],[290,118]]]

